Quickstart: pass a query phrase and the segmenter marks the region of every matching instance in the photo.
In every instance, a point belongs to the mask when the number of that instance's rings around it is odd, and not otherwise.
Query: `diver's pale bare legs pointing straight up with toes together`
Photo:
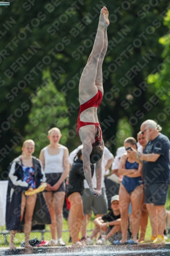
[[[101,83],[101,75],[99,75],[99,72],[101,72],[101,65],[100,63],[103,62],[104,53],[107,51],[107,49],[104,48],[105,46],[105,30],[106,27],[109,26],[109,20],[108,20],[108,11],[106,7],[103,7],[101,10],[100,18],[99,18],[99,26],[98,31],[96,33],[96,37],[94,40],[94,45],[92,52],[88,58],[87,64],[82,72],[80,84],[79,84],[79,101],[80,104],[83,104],[84,102],[88,101],[90,98],[92,98],[97,92],[98,88],[95,86],[95,81]],[[102,57],[100,59],[100,56],[102,54]],[[99,65],[99,69],[98,69]],[[98,78],[97,78],[98,74]],[[99,84],[100,85],[100,84]]]

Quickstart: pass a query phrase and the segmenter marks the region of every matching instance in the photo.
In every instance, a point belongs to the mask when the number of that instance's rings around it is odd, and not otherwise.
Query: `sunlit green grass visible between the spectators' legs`
[[[168,190],[168,195],[167,195],[167,200],[166,200],[166,204],[165,204],[165,208],[166,209],[169,209],[170,208],[170,187],[169,187],[169,190]],[[93,229],[94,228],[94,224],[93,224],[93,221],[94,220],[94,215],[92,215],[91,217],[91,220],[87,226],[87,229]],[[47,230],[49,230],[49,226],[46,225],[45,227]],[[3,227],[2,229],[5,229],[5,227]],[[68,229],[68,225],[67,225],[67,221],[66,220],[63,220],[63,229]],[[88,231],[87,232],[88,234],[91,233],[91,231]],[[145,238],[150,238],[151,237],[151,233],[152,233],[152,230],[151,230],[151,224],[150,224],[150,220],[148,221],[148,227],[147,227],[147,231],[146,231],[146,234],[145,234]],[[79,234],[79,237],[81,235]],[[31,233],[31,236],[30,236],[30,239],[33,239],[33,238],[37,238],[38,240],[41,239],[41,233],[39,232],[35,232],[35,233]],[[68,240],[69,240],[69,232],[63,232],[62,233],[62,239],[63,241],[66,242],[67,245],[71,245],[71,243],[68,243]],[[44,240],[51,240],[51,233],[50,232],[47,232],[44,234]],[[0,235],[0,246],[3,246],[3,247],[8,247],[9,246],[9,236],[7,238],[7,241],[8,241],[8,244],[4,244],[4,236],[3,235]],[[14,243],[16,246],[20,246],[20,243],[24,241],[24,234],[23,233],[17,233],[16,236],[15,236],[15,240],[14,240]],[[170,238],[168,240],[166,240],[167,242],[170,242]]]

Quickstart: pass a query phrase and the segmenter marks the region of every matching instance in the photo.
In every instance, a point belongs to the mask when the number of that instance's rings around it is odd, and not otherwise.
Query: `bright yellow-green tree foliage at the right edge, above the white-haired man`
[[[162,53],[163,62],[160,72],[152,74],[148,77],[149,89],[153,93],[154,104],[150,106],[157,121],[163,127],[163,133],[169,137],[169,116],[170,116],[170,10],[164,18],[164,25],[168,28],[168,33],[159,39],[160,44],[164,46]],[[163,103],[163,104],[162,104]]]

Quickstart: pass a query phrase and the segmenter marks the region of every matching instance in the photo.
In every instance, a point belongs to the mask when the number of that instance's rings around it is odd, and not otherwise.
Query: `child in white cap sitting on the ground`
[[[106,240],[112,242],[122,238],[122,231],[120,226],[120,210],[119,210],[119,196],[115,195],[111,198],[111,211],[96,218],[93,223],[98,227],[99,231],[102,229],[107,234],[96,242],[97,245],[105,245]]]

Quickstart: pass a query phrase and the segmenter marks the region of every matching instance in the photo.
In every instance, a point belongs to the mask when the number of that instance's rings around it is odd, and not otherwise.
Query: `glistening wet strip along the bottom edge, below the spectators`
[[[137,256],[170,256],[170,243],[165,245],[122,245],[122,246],[83,246],[79,248],[72,248],[71,246],[52,246],[52,247],[34,247],[34,248],[23,248],[17,247],[15,250],[10,250],[8,247],[0,248],[0,255],[41,255],[41,256],[108,256],[108,255],[137,255]]]

